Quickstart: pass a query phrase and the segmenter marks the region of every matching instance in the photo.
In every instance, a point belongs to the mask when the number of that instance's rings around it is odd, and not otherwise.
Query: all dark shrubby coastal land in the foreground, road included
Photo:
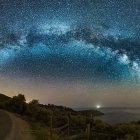
[[[32,140],[31,133],[36,140],[140,140],[140,121],[110,124],[96,119],[104,115],[97,110],[76,111],[64,106],[43,105],[38,100],[26,103],[21,94],[12,98],[0,97],[1,109],[22,118],[3,112],[0,118],[3,120],[0,125],[1,139],[10,131],[11,119],[15,129],[8,138],[13,139],[6,140]]]

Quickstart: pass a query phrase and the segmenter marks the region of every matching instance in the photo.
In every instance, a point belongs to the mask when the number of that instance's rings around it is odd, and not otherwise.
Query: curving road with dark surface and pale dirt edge
[[[0,110],[0,140],[34,140],[34,137],[25,120]]]

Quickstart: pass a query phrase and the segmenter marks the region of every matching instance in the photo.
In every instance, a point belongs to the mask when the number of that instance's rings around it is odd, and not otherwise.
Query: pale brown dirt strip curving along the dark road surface
[[[28,123],[12,113],[6,112],[12,121],[12,128],[5,140],[34,140]]]

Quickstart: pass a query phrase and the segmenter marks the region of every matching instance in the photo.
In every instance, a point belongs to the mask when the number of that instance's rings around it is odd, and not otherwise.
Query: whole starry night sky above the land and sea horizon
[[[2,93],[140,106],[139,0],[0,0],[0,13]]]

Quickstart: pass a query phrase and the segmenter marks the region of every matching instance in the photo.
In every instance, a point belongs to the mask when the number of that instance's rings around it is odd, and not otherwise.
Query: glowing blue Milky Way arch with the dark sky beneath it
[[[0,72],[45,79],[139,81],[135,36],[84,25],[42,24],[1,37]]]

